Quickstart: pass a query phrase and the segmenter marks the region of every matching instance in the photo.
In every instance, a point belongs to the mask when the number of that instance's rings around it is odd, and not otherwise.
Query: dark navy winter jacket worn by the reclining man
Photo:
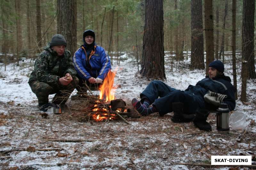
[[[196,95],[200,102],[200,106],[204,107],[204,95],[208,91],[225,94],[227,98],[223,100],[223,103],[228,104],[229,110],[234,110],[236,107],[236,100],[235,100],[235,87],[231,84],[231,80],[228,76],[221,76],[209,78],[206,77],[201,81],[197,82],[195,86],[189,85],[188,88],[185,90],[185,93],[190,95]]]

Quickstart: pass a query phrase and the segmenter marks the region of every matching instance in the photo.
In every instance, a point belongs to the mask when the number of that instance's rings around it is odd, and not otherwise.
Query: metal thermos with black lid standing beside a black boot
[[[229,130],[229,109],[228,104],[221,103],[217,109],[217,130],[228,131]]]

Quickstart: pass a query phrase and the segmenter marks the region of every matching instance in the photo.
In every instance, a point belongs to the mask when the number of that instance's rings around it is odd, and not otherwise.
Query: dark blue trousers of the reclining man
[[[158,80],[150,82],[145,90],[143,90],[140,98],[143,100],[145,97],[148,98],[150,104],[156,107],[159,114],[172,112],[173,102],[183,103],[185,114],[194,114],[196,109],[200,107],[199,103],[202,102],[198,96],[176,90]]]

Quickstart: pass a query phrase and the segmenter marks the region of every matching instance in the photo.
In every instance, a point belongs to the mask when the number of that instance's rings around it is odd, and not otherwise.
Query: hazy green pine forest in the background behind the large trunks
[[[223,28],[225,3],[227,2],[226,29]],[[57,0],[1,0],[1,58],[3,54],[36,56],[38,47],[43,47],[57,33]],[[164,1],[164,50],[175,52],[175,36],[178,50],[191,50],[190,0]],[[204,1],[203,12],[204,12]],[[82,45],[82,34],[86,29],[96,33],[96,42],[108,53],[142,51],[145,4],[143,0],[77,0],[77,47]],[[224,50],[231,51],[232,1],[213,1],[214,40],[218,52],[224,37]],[[242,0],[236,5],[236,49],[241,50]],[[204,14],[203,14],[204,16]],[[70,18],[65,18],[71,22]],[[204,22],[204,19],[203,19]],[[204,24],[203,24],[204,25]],[[112,33],[111,33],[112,32]],[[217,37],[218,36],[218,37]],[[112,39],[111,44],[110,39]],[[39,42],[40,41],[40,42]],[[38,46],[38,47],[37,47]],[[109,54],[110,55],[110,54]],[[111,55],[110,55],[111,56]],[[139,55],[141,56],[141,55]]]

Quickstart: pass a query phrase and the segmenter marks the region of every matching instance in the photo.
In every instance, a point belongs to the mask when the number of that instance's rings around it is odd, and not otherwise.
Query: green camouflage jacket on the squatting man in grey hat
[[[69,73],[72,78],[76,76],[71,54],[65,50],[64,55],[57,53],[48,44],[36,59],[35,69],[32,71],[28,83],[38,80],[52,86],[60,85],[59,79]]]

